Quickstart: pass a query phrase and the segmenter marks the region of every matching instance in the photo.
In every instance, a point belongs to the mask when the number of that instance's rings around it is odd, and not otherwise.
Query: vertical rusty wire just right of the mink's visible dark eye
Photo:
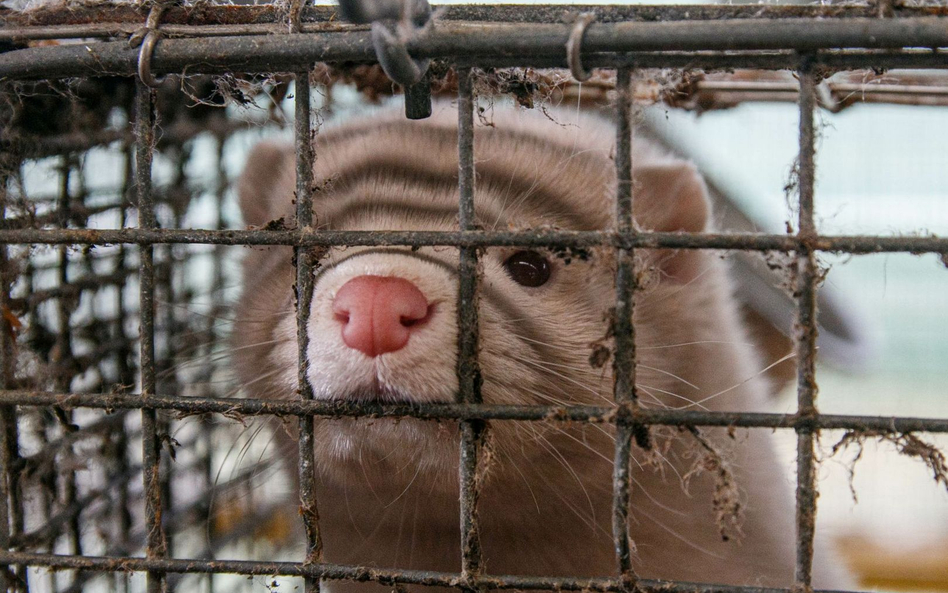
[[[616,80],[616,230],[635,231],[632,193],[632,71],[621,68]],[[620,413],[616,415],[616,451],[612,473],[612,534],[619,575],[628,587],[637,579],[632,568],[632,543],[629,535],[630,465],[632,439],[637,427],[630,409],[638,405],[635,389],[635,326],[632,323],[635,297],[635,254],[632,249],[616,250],[616,308],[613,320],[615,358],[613,360],[614,397]],[[645,430],[638,427],[638,430]]]

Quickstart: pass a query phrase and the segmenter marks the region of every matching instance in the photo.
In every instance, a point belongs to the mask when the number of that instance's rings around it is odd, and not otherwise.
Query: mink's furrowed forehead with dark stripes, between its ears
[[[479,132],[475,206],[482,226],[611,226],[614,181],[607,155],[530,130]],[[456,130],[412,122],[337,130],[317,140],[315,183],[321,223],[333,228],[384,222],[386,216],[392,224],[408,224],[406,230],[443,223],[457,228]]]

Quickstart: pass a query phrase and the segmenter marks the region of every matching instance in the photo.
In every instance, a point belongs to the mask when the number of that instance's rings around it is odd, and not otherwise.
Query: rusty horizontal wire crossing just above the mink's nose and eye
[[[802,239],[757,233],[664,233],[636,231],[270,231],[205,229],[5,229],[0,244],[114,245],[182,243],[207,245],[408,245],[414,247],[550,247],[586,249],[598,245],[623,249],[725,249],[794,251]],[[867,253],[948,253],[948,237],[836,235],[806,239],[816,251]]]

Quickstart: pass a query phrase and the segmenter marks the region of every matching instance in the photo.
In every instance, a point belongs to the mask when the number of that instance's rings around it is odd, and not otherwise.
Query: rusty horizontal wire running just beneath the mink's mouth
[[[317,416],[327,418],[418,418],[421,420],[517,420],[524,422],[615,422],[619,408],[639,424],[725,426],[739,428],[810,428],[888,432],[948,432],[948,418],[856,416],[847,414],[770,414],[705,410],[650,410],[620,406],[525,406],[496,404],[387,404],[348,401],[211,398],[113,393],[0,391],[0,405],[55,406],[63,409],[155,409],[183,414],[239,416]]]

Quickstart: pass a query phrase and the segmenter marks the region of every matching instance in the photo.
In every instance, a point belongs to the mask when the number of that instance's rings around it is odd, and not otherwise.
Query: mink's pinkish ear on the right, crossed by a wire
[[[635,170],[635,218],[643,230],[700,233],[708,228],[711,203],[698,169],[686,161],[648,164]],[[663,275],[687,283],[703,268],[704,256],[693,249],[658,250]]]

